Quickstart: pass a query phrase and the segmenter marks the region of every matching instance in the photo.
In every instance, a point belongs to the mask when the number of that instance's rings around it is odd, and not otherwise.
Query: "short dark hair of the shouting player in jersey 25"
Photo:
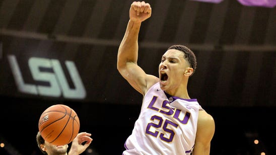
[[[184,45],[172,45],[168,48],[168,50],[169,49],[176,49],[176,50],[182,51],[184,53],[184,59],[186,59],[188,61],[188,63],[190,64],[190,67],[193,68],[193,73],[195,72],[196,57],[195,57],[194,53],[192,52],[192,50],[190,50],[188,47],[186,47]]]

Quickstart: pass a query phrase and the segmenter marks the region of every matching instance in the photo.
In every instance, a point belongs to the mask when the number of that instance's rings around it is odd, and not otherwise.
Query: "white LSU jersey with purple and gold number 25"
[[[153,85],[143,99],[123,154],[190,154],[199,110],[203,109],[196,99],[172,97],[159,83]]]

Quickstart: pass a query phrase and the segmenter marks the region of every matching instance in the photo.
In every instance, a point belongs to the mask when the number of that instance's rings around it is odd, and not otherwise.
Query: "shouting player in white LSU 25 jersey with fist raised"
[[[188,79],[196,68],[193,52],[183,45],[169,47],[159,64],[159,78],[137,65],[140,27],[151,13],[150,4],[144,1],[131,4],[118,49],[118,71],[144,96],[123,154],[210,154],[215,121],[187,91]]]

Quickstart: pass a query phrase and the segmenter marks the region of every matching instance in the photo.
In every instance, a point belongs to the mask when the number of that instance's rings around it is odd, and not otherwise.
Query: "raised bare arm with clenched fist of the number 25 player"
[[[146,90],[157,82],[157,77],[147,75],[137,65],[138,58],[138,36],[143,21],[151,17],[150,4],[133,2],[129,9],[129,21],[124,37],[118,49],[117,69],[125,80],[138,92],[145,94]]]

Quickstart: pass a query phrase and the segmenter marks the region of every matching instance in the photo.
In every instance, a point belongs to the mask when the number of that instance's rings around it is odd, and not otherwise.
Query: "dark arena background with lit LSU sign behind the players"
[[[170,45],[194,51],[188,92],[215,119],[211,154],[276,154],[276,2],[146,2],[138,63],[158,76]],[[116,69],[131,3],[0,0],[0,154],[42,154],[39,117],[60,103],[92,133],[82,154],[122,154],[143,98]]]

